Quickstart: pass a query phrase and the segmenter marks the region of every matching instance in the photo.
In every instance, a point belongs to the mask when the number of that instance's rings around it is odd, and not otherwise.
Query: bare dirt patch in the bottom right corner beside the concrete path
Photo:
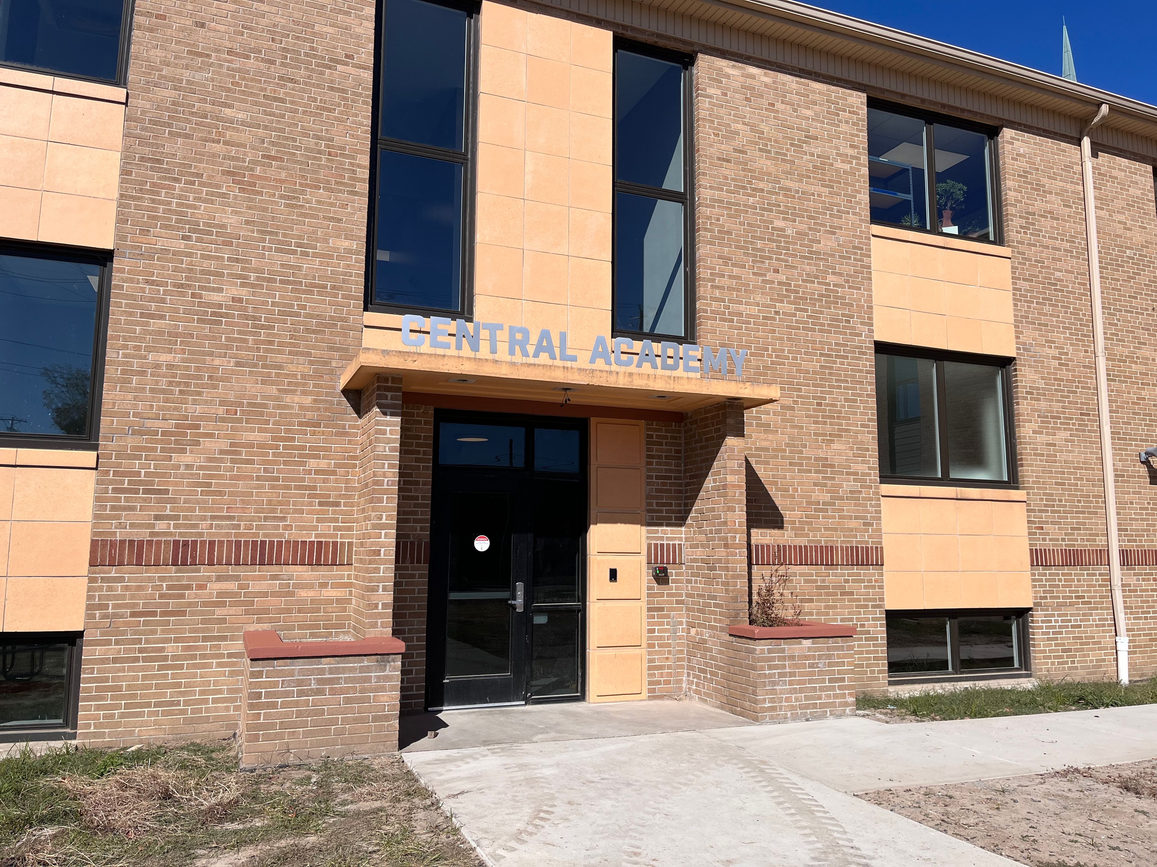
[[[860,796],[1032,867],[1157,865],[1157,759]]]

